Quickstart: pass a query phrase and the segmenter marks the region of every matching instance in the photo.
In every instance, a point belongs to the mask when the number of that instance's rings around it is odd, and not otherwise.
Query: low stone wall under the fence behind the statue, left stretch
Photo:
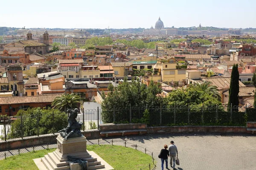
[[[90,138],[99,138],[99,130],[86,130],[81,131],[82,134],[90,139]],[[17,149],[17,148],[24,148],[24,147],[31,147],[33,145],[42,145],[42,144],[55,144],[57,143],[57,136],[59,133],[55,134],[46,134],[46,135],[40,135],[40,136],[29,136],[24,137],[23,139],[17,138],[17,139],[10,139],[0,142],[0,151],[2,150],[11,150],[11,149]]]

